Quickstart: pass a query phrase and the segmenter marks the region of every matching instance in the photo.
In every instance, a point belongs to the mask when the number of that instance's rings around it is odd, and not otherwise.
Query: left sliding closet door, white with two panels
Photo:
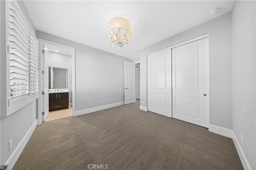
[[[148,55],[148,111],[172,117],[171,49]]]

